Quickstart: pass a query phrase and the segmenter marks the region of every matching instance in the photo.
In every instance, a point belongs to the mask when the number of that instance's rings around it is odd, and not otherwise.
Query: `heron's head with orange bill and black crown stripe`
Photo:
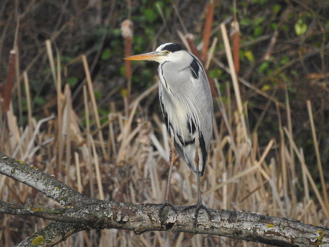
[[[155,51],[125,57],[125,60],[150,60],[162,63],[164,61],[184,60],[184,56],[188,56],[188,52],[181,44],[165,43],[160,45]]]

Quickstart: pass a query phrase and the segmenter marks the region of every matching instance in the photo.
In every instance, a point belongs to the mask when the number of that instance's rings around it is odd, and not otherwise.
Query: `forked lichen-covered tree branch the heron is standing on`
[[[329,230],[296,220],[234,210],[209,209],[212,219],[201,211],[194,225],[194,210],[177,214],[169,207],[158,215],[159,205],[134,205],[83,197],[54,177],[33,165],[0,154],[0,173],[21,181],[60,202],[63,208],[14,205],[0,201],[0,213],[34,215],[56,220],[17,246],[52,246],[72,234],[87,229],[126,229],[142,234],[146,231],[189,232],[225,236],[275,246],[329,245]],[[59,222],[60,221],[60,222]]]

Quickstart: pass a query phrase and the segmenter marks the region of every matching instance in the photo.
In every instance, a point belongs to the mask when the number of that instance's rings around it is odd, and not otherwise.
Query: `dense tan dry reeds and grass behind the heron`
[[[222,27],[222,31],[226,33],[225,27]],[[161,203],[164,200],[168,167],[168,134],[162,116],[149,113],[148,120],[135,117],[142,112],[140,101],[156,90],[157,84],[145,90],[140,97],[131,99],[129,111],[118,109],[118,105],[123,104],[112,104],[111,113],[100,116],[88,63],[82,55],[71,62],[80,63],[85,73],[82,116],[73,108],[70,86],[66,84],[63,90],[61,88],[65,78],[59,70],[62,67],[60,54],[53,50],[50,41],[46,41],[45,47],[57,90],[57,112],[43,119],[33,116],[29,75],[23,72],[19,83],[24,84],[22,93],[27,98],[27,125],[23,127],[17,123],[12,105],[8,112],[1,113],[0,152],[54,174],[89,197],[138,204]],[[233,66],[229,47],[226,50],[229,64]],[[329,204],[319,152],[316,153],[321,184],[312,178],[309,171],[311,164],[305,163],[303,150],[294,142],[288,94],[286,114],[290,124],[282,124],[282,110],[277,104],[280,139],[269,139],[265,146],[261,146],[258,136],[263,133],[251,133],[248,128],[248,116],[245,114],[248,105],[241,99],[238,78],[234,77],[232,66],[229,69],[233,75],[234,100],[229,84],[226,92],[220,92],[218,82],[215,82],[220,96],[214,99],[214,138],[206,172],[201,179],[203,202],[210,208],[288,217],[328,227]],[[225,104],[222,98],[226,99]],[[237,102],[237,109],[232,107],[233,101]],[[311,102],[307,106],[310,131],[314,143],[317,143]],[[126,115],[126,112],[129,114]],[[101,119],[106,119],[106,122],[101,124]],[[82,120],[85,124],[82,124]],[[314,148],[318,150],[317,146]],[[194,204],[197,200],[196,177],[181,158],[178,155],[176,157],[170,200],[174,205]],[[301,173],[297,172],[299,170]],[[32,188],[3,175],[0,175],[0,198],[18,204],[58,206]],[[35,217],[0,217],[0,246],[3,247],[12,246],[47,225],[47,220]],[[137,236],[133,232],[109,229],[78,233],[59,246],[263,245],[188,233],[148,232]]]

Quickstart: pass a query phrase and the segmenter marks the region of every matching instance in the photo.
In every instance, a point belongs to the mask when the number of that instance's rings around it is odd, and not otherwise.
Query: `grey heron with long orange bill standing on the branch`
[[[175,207],[169,202],[170,179],[175,160],[173,147],[175,147],[197,176],[198,202],[184,209],[196,208],[194,219],[196,227],[200,209],[204,209],[211,218],[209,210],[202,203],[200,190],[200,176],[204,174],[206,168],[213,119],[212,97],[205,69],[198,57],[177,43],[164,43],[153,52],[124,59],[150,60],[160,64],[159,98],[171,145],[166,194],[159,216],[165,206],[170,206],[176,212]]]

